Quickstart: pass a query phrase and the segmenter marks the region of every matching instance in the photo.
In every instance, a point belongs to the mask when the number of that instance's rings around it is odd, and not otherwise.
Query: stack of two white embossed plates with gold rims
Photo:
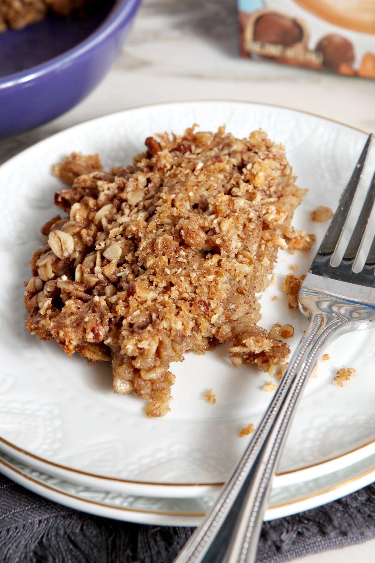
[[[23,281],[39,226],[56,215],[53,193],[61,184],[51,175],[53,163],[75,150],[99,153],[106,168],[126,164],[147,136],[180,133],[192,123],[210,130],[226,124],[237,136],[261,127],[282,142],[299,185],[309,188],[293,224],[319,243],[327,224],[313,223],[309,211],[321,204],[335,209],[366,135],[314,115],[229,101],[147,106],[67,129],[0,167],[0,471],[53,501],[119,520],[198,524],[246,447],[249,438],[238,432],[256,425],[269,402],[269,377],[248,365],[233,368],[225,346],[188,354],[172,366],[171,413],[148,419],[142,401],[113,393],[110,365],[89,367],[26,332]],[[292,345],[307,321],[288,309],[282,280],[291,267],[306,272],[310,260],[280,254],[275,283],[261,298],[261,324],[292,324]],[[374,348],[375,331],[350,334],[319,362],[284,448],[268,519],[375,479]],[[356,374],[340,388],[333,377],[343,364]],[[215,405],[203,398],[210,387]]]

